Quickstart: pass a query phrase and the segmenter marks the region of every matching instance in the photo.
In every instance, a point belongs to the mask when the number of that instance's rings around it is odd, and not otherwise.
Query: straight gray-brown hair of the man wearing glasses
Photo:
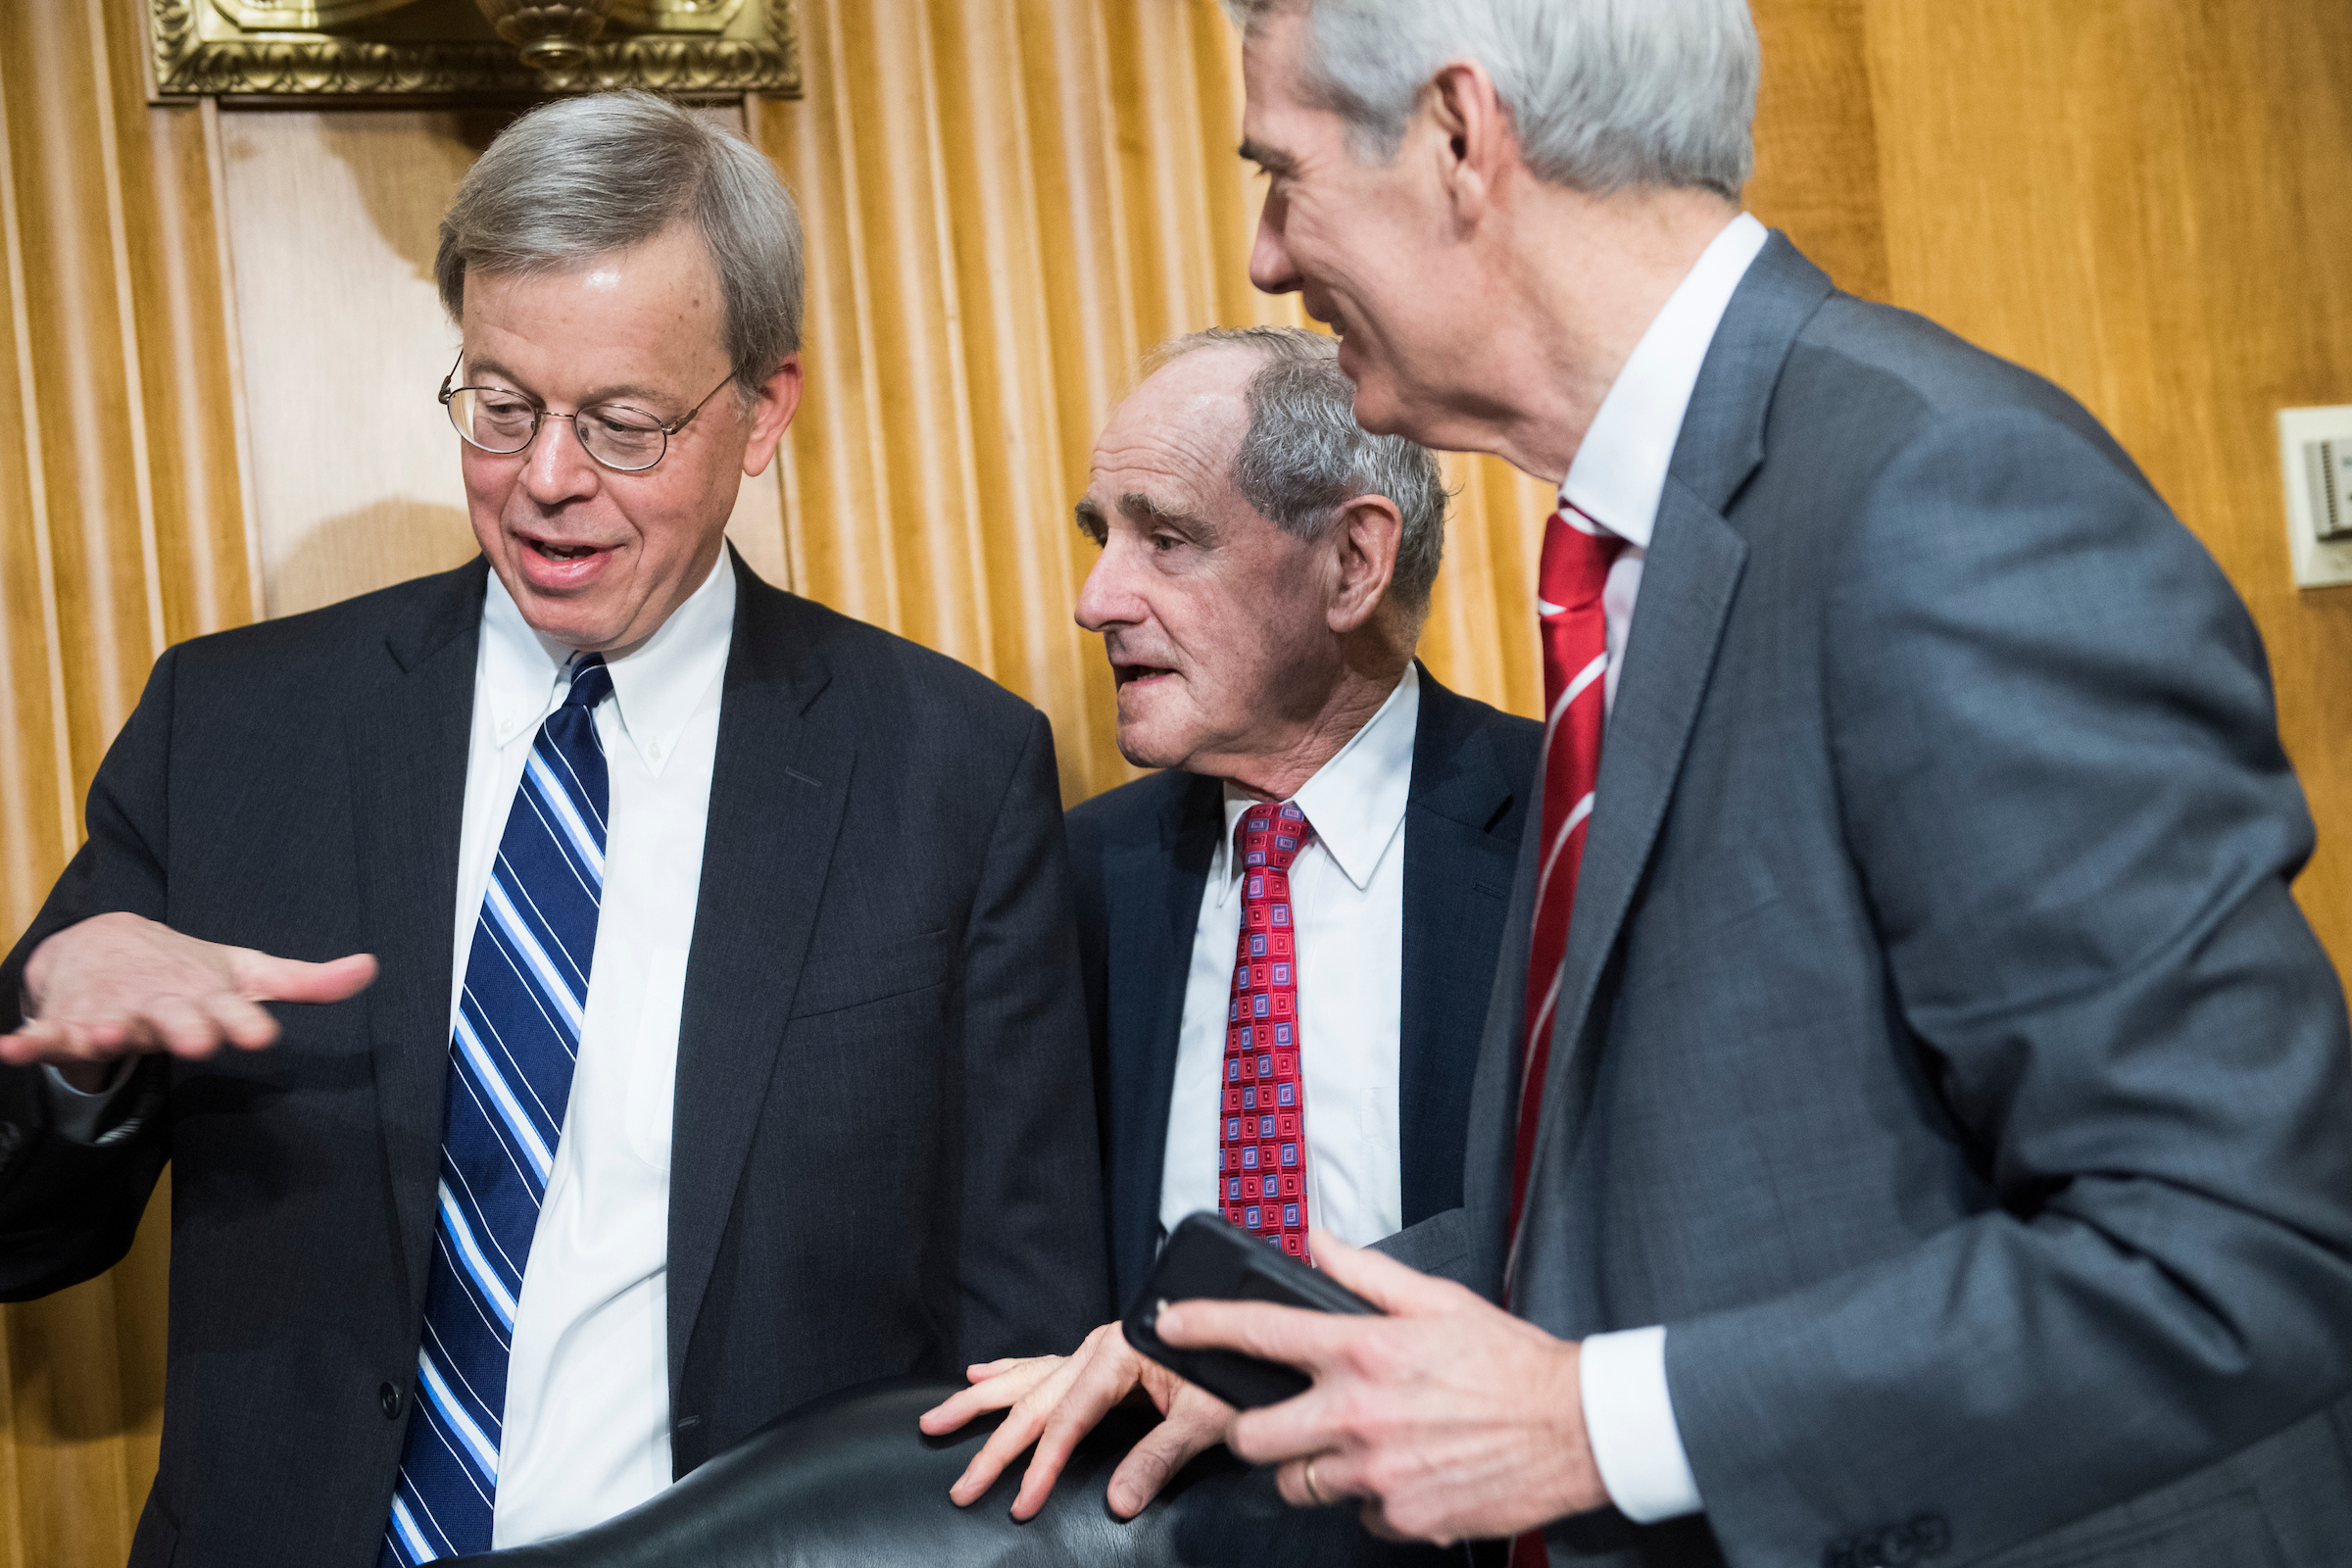
[[[449,320],[466,270],[541,275],[694,223],[727,301],[727,357],[753,393],[800,350],[800,209],[748,141],[649,92],[557,99],[489,143],[442,219]]]

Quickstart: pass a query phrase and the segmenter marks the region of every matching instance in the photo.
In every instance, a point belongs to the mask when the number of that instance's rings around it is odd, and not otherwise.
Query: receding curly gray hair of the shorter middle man
[[[1232,454],[1232,487],[1261,517],[1296,538],[1319,538],[1357,496],[1388,496],[1404,515],[1388,592],[1416,616],[1425,611],[1446,550],[1446,484],[1437,454],[1355,423],[1355,383],[1338,369],[1338,343],[1319,331],[1188,331],[1152,350],[1150,367],[1223,346],[1261,355],[1242,393],[1249,430]]]

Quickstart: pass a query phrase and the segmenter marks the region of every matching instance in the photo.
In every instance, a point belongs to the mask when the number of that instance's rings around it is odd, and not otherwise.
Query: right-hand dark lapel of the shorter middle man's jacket
[[[1404,1222],[1461,1204],[1463,1124],[1517,849],[1494,837],[1524,780],[1503,776],[1475,710],[1421,672],[1404,818],[1397,1131]]]

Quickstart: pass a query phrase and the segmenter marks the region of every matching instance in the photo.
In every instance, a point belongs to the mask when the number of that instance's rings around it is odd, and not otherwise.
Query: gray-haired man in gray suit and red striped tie
[[[2230,585],[2072,400],[1738,209],[1740,0],[1254,0],[1251,275],[1562,482],[1465,1208],[1294,1502],[1515,1561],[2336,1563],[2352,1063]],[[1501,1302],[1498,1312],[1489,1302]]]

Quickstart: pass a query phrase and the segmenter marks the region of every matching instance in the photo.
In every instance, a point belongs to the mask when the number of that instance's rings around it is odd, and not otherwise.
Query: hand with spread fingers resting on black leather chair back
[[[1044,1507],[1077,1441],[1138,1387],[1160,1406],[1162,1420],[1110,1474],[1110,1512],[1120,1519],[1143,1512],[1192,1455],[1225,1439],[1232,1420],[1232,1406],[1223,1399],[1138,1356],[1117,1324],[1089,1333],[1073,1356],[983,1361],[967,1368],[967,1375],[971,1387],[927,1410],[920,1425],[941,1436],[974,1415],[1011,1408],[948,1488],[948,1497],[957,1507],[974,1502],[1035,1443],[1037,1453],[1014,1495],[1014,1519],[1033,1519]]]

